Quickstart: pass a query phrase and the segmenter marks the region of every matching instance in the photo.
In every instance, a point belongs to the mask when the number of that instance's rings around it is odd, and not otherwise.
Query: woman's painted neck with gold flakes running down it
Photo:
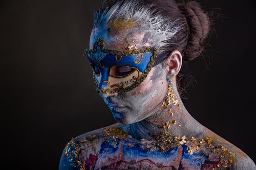
[[[193,119],[186,110],[175,88],[176,85],[171,85],[171,87],[171,94],[167,94],[166,98],[150,111],[148,115],[151,116],[128,125],[129,133],[134,138],[150,139],[164,130],[167,130],[172,136],[186,136],[188,138],[201,136],[204,131],[203,126]],[[171,103],[168,105],[169,101],[166,99],[170,95]]]

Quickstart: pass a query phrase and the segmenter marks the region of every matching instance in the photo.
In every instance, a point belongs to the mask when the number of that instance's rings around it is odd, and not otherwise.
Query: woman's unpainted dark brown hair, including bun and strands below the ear
[[[133,0],[105,0],[101,8],[111,8],[116,2],[126,1],[132,3]],[[183,62],[188,62],[198,57],[203,49],[208,37],[212,22],[209,14],[205,12],[196,1],[176,2],[175,0],[139,0],[143,5],[150,5],[153,11],[160,13],[170,20],[179,20],[180,30],[173,38],[168,40],[168,51],[178,50],[182,53]],[[163,61],[168,55],[161,58]],[[176,78],[179,93],[186,92],[190,85],[190,76],[185,75],[181,70]]]

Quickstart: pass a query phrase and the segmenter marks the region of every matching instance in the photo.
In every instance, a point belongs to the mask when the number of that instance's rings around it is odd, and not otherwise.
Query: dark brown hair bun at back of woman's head
[[[204,42],[210,32],[211,21],[198,2],[178,4],[179,9],[187,20],[188,42],[184,50],[184,57],[193,60],[203,51]]]

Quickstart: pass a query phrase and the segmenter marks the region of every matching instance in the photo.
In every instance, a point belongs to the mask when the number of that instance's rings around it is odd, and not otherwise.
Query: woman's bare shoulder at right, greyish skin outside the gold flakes
[[[224,138],[216,135],[212,131],[208,134],[208,136],[210,136],[213,139],[217,146],[223,147],[223,154],[234,155],[232,165],[233,170],[256,170],[256,165],[254,161],[246,153],[237,148],[235,145],[225,140]]]

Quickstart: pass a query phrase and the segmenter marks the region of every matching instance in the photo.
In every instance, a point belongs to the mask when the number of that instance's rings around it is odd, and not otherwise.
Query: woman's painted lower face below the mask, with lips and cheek
[[[100,94],[114,119],[130,124],[151,116],[153,112],[150,111],[165,99],[168,86],[166,71],[162,64],[158,64],[136,88],[124,93]]]

